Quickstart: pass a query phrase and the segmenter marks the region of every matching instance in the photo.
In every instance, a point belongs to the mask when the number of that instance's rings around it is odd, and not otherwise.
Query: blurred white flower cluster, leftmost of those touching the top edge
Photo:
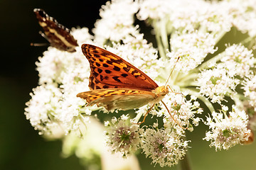
[[[100,9],[100,20],[96,21],[95,40],[103,44],[106,40],[122,40],[134,31],[134,13],[138,11],[138,5],[132,0],[107,1]]]

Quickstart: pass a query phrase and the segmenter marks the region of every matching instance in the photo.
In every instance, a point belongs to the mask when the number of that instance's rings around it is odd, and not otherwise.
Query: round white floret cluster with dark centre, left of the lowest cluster
[[[118,121],[117,118],[113,118],[112,125],[106,125],[107,145],[113,153],[120,152],[123,157],[127,157],[137,151],[141,142],[139,136],[142,133],[139,125],[130,123],[127,115],[122,115]]]

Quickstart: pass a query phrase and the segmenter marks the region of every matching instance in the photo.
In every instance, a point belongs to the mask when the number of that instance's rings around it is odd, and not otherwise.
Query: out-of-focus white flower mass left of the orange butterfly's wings
[[[90,38],[87,29],[74,32],[75,38]],[[70,53],[49,47],[36,65],[39,86],[33,89],[25,109],[31,125],[40,134],[60,137],[59,133],[67,134],[70,130],[77,130],[81,121],[89,121],[81,114],[90,115],[92,109],[85,108],[85,101],[76,97],[79,92],[89,90],[89,64],[80,49]]]

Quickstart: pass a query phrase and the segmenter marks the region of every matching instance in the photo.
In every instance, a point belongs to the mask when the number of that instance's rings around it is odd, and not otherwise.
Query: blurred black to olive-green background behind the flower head
[[[61,141],[47,141],[33,130],[23,114],[29,93],[38,84],[35,62],[47,47],[31,47],[31,42],[46,42],[33,8],[43,8],[67,28],[76,26],[90,30],[105,1],[34,1],[0,0],[0,169],[84,169],[73,156],[61,157]],[[256,144],[235,146],[215,152],[203,141],[206,127],[200,125],[193,133],[189,154],[193,169],[256,169]],[[151,159],[139,156],[142,169],[160,169]],[[164,169],[176,169],[164,168]]]

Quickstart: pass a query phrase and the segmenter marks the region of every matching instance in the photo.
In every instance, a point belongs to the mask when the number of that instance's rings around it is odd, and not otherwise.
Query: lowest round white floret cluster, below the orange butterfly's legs
[[[143,133],[142,150],[146,157],[152,159],[152,164],[172,166],[183,159],[188,147],[188,141],[171,129],[155,130],[147,128]]]

